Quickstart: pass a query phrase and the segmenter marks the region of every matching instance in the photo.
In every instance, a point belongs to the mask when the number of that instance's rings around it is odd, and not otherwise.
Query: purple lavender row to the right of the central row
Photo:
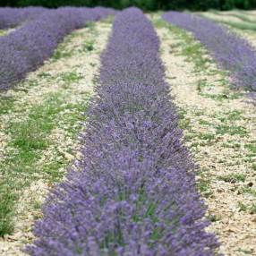
[[[237,87],[256,90],[256,53],[249,43],[213,21],[189,13],[168,12],[163,19],[192,32]]]

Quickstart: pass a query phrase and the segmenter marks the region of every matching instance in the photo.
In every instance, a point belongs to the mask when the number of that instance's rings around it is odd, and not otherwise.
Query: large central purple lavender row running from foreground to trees
[[[83,158],[47,199],[30,255],[215,255],[158,48],[140,10],[116,16]]]

